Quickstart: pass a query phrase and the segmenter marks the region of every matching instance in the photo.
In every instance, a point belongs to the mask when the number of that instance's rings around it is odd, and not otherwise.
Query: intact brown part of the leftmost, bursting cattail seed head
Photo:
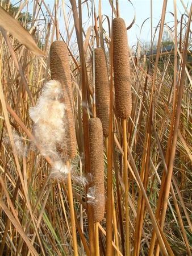
[[[65,119],[66,119],[66,143],[64,152],[66,160],[74,158],[76,155],[76,131],[73,115],[72,81],[70,78],[70,67],[68,49],[62,41],[55,41],[50,48],[50,69],[51,79],[60,81],[64,89]]]

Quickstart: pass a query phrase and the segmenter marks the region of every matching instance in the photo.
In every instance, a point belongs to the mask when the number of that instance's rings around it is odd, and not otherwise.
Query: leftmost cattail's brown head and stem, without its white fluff
[[[65,103],[65,136],[67,143],[63,144],[60,148],[66,157],[66,166],[70,168],[69,160],[76,155],[76,132],[74,127],[73,115],[73,96],[72,96],[72,81],[70,78],[70,67],[68,58],[68,49],[66,44],[62,41],[55,41],[51,44],[50,48],[50,68],[51,78],[60,82],[63,89],[63,98]],[[74,217],[73,206],[73,192],[71,174],[68,174],[68,197],[70,207],[70,218],[72,221],[72,237],[73,237],[73,250],[74,255],[78,255],[77,250],[77,237],[76,237],[76,224]]]

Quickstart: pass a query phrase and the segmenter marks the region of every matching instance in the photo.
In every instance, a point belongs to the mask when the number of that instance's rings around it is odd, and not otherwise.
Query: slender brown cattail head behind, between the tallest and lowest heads
[[[95,102],[97,117],[103,126],[103,135],[108,137],[110,90],[105,53],[95,48]]]

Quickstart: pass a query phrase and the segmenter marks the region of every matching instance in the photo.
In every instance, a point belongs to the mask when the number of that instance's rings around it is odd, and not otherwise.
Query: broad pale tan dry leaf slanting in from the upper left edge
[[[30,51],[36,56],[44,56],[43,51],[36,46],[34,39],[31,34],[14,19],[9,13],[7,13],[0,6],[0,27],[10,32],[21,44],[24,44]]]

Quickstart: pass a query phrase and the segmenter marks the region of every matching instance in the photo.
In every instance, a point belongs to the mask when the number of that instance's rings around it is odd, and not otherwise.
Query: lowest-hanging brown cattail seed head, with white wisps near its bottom
[[[89,119],[90,165],[94,186],[94,221],[102,221],[105,213],[103,129],[99,118]]]

